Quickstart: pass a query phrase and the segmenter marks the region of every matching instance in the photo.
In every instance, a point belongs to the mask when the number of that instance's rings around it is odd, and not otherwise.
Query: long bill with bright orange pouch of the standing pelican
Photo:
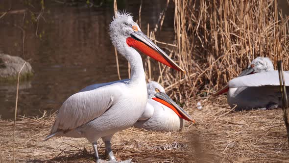
[[[176,64],[164,51],[149,40],[141,31],[131,33],[131,37],[126,39],[127,45],[140,50],[142,53],[152,57],[153,59],[175,69],[186,73],[178,64]]]

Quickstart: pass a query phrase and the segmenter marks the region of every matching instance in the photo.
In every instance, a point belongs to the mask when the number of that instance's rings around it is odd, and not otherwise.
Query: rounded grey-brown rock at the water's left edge
[[[11,56],[0,53],[0,81],[16,81],[25,60],[19,56]],[[21,71],[21,79],[27,79],[33,75],[30,63],[26,62]]]

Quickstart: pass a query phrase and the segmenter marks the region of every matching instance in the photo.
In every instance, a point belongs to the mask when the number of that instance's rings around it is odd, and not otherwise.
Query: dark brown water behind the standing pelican
[[[119,7],[132,13],[137,20],[140,1],[123,0]],[[20,115],[35,116],[40,113],[39,110],[56,110],[65,99],[87,85],[118,80],[114,47],[108,35],[108,26],[114,15],[112,4],[86,8],[47,1],[45,5],[45,19],[40,20],[37,31],[39,37],[35,34],[36,25],[31,29],[27,25],[25,29],[24,56],[22,30],[13,26],[29,23],[23,22],[24,14],[7,14],[0,20],[0,36],[1,40],[5,40],[0,42],[0,50],[5,54],[24,57],[35,72],[32,80],[21,86],[19,91]],[[166,0],[143,0],[144,33],[148,23],[153,29],[165,5]],[[24,8],[18,4],[13,9]],[[173,40],[173,12],[170,6],[163,32],[157,35],[161,41],[171,43]],[[119,56],[119,62],[121,78],[125,79],[127,61]],[[16,84],[0,84],[0,114],[4,119],[12,118]]]

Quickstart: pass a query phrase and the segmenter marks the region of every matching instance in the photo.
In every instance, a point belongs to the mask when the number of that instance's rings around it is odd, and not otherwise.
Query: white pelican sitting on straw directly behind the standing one
[[[159,83],[150,81],[146,87],[146,108],[134,127],[151,131],[181,131],[184,119],[194,122],[185,110],[169,98]]]

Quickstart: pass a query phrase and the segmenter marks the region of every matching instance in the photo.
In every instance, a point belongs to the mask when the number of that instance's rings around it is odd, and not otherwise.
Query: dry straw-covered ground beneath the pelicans
[[[136,163],[244,163],[289,162],[286,127],[282,110],[235,112],[228,108],[225,96],[195,99],[186,107],[196,120],[182,132],[161,133],[130,128],[113,138],[113,150],[119,160]],[[16,161],[41,163],[93,163],[93,149],[84,138],[47,136],[54,117],[23,118],[16,127]],[[0,122],[1,163],[13,160],[13,122]],[[101,140],[99,140],[102,143]],[[104,153],[104,145],[99,147]]]

